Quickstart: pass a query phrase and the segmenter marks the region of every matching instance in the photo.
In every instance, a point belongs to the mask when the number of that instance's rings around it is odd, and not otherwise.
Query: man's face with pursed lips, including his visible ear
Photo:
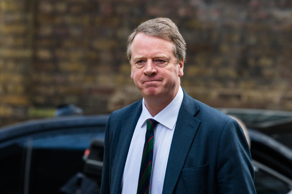
[[[172,41],[138,33],[131,45],[131,78],[142,96],[174,97],[183,75],[183,60]]]

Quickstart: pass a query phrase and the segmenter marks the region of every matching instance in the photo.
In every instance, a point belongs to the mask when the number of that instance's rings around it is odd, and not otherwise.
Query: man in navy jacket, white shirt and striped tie
[[[109,116],[101,193],[255,193],[238,123],[180,87],[186,43],[176,25],[142,23],[128,37],[127,54],[143,99]]]

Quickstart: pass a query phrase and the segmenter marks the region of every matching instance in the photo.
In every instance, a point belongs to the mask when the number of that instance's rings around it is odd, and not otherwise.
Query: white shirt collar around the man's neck
[[[145,124],[146,119],[153,118],[155,121],[158,121],[160,124],[172,130],[176,125],[176,120],[179,115],[179,108],[182,104],[182,99],[183,92],[182,88],[179,86],[179,90],[176,94],[176,97],[174,97],[171,103],[169,103],[162,111],[156,114],[155,117],[152,117],[152,115],[145,107],[145,100],[143,98],[142,112],[140,116],[141,121],[143,121],[143,123],[141,124],[141,128]]]

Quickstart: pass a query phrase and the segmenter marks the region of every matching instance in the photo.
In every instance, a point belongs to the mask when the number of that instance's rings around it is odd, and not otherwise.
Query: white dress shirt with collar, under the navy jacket
[[[122,179],[122,194],[136,194],[146,133],[146,119],[153,118],[160,124],[154,129],[154,150],[151,170],[150,194],[162,193],[166,165],[183,92],[179,86],[176,97],[155,117],[152,117],[143,98],[142,112],[137,122]]]

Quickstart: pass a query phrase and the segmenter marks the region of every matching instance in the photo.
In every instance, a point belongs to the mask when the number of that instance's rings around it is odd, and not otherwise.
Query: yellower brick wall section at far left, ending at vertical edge
[[[0,2],[0,125],[27,119],[33,14],[26,0]]]

